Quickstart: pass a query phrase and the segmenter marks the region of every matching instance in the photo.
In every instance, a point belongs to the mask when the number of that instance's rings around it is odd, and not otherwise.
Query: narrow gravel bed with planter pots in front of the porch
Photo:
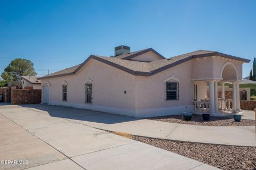
[[[242,119],[241,122],[235,122],[234,118],[225,117],[213,117],[211,116],[210,121],[204,121],[202,115],[193,114],[191,121],[183,121],[182,115],[171,115],[171,116],[158,116],[148,118],[154,121],[163,121],[171,123],[181,123],[181,124],[194,124],[202,126],[253,126],[255,125],[255,120],[245,120]]]

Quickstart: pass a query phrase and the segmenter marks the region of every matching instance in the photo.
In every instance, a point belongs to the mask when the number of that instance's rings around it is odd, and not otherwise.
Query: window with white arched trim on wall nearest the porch
[[[166,86],[166,100],[178,100],[179,99],[179,82],[167,81]]]

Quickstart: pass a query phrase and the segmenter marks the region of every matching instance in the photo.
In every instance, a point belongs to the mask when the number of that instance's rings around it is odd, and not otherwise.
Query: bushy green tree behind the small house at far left
[[[21,75],[34,76],[37,73],[34,69],[34,64],[23,58],[16,58],[4,69],[1,77],[5,81],[20,81]]]

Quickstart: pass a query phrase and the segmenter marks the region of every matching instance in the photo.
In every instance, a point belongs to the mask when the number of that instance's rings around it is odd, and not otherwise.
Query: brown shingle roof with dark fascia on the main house
[[[152,62],[140,62],[140,61],[132,61],[132,60],[126,59],[127,57],[135,55],[135,54],[137,55],[140,53],[145,53],[145,51],[147,51],[147,50],[151,50],[151,48],[148,48],[145,50],[140,50],[140,51],[134,52],[134,53],[130,53],[131,55],[126,54],[126,55],[120,55],[120,56],[116,56],[116,57],[105,57],[105,56],[91,55],[82,64],[79,64],[74,67],[70,67],[68,69],[65,69],[65,70],[62,70],[59,72],[55,72],[55,73],[52,73],[49,75],[45,75],[44,77],[41,77],[40,79],[75,74],[89,60],[91,60],[91,58],[93,58],[94,60],[98,60],[100,62],[106,63],[108,65],[114,66],[117,69],[121,69],[121,70],[131,73],[133,75],[144,75],[144,76],[150,76],[150,75],[156,74],[165,69],[169,69],[172,66],[181,64],[183,62],[186,62],[188,60],[191,60],[193,58],[198,58],[198,57],[222,56],[222,57],[231,58],[231,59],[239,60],[239,61],[243,61],[243,62],[250,62],[250,60],[246,60],[244,58],[239,58],[239,57],[222,54],[219,52],[213,52],[213,51],[209,51],[209,50],[197,50],[195,52],[186,53],[186,54],[174,56],[171,58],[167,58],[167,59],[165,58],[163,60],[156,60],[156,61],[152,61]]]

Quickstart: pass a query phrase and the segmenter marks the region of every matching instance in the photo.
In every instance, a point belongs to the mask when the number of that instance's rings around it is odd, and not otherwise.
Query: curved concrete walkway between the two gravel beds
[[[255,126],[198,126],[153,121],[63,106],[23,105],[23,107],[102,130],[178,141],[256,146]],[[244,114],[244,117],[254,117],[253,111],[247,111]]]

